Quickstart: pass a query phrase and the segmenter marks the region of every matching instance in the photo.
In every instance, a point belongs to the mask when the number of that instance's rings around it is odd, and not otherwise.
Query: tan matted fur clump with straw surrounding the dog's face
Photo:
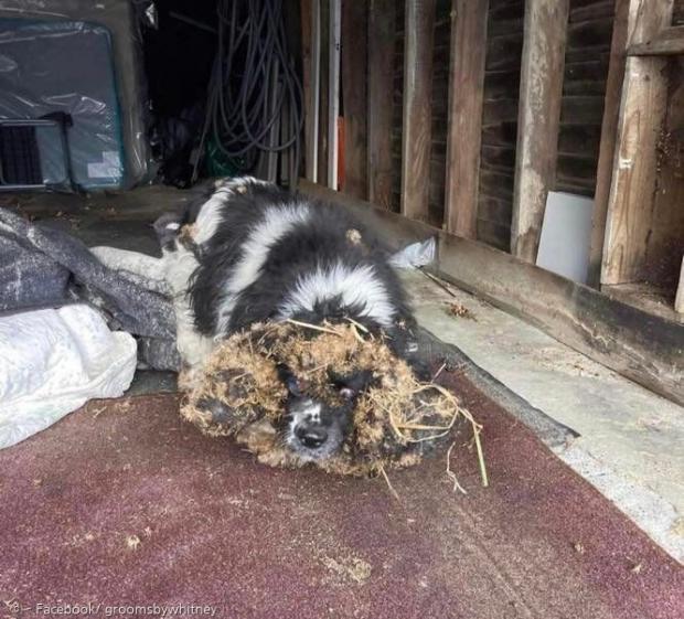
[[[367,474],[417,463],[445,439],[463,410],[450,392],[419,383],[407,363],[357,323],[255,324],[212,354],[181,414],[211,436],[232,436],[270,466],[304,463],[282,441],[287,388],[278,366],[304,378],[304,393],[330,406],[340,393],[329,371],[371,371],[352,429],[339,452],[314,463],[330,472]]]

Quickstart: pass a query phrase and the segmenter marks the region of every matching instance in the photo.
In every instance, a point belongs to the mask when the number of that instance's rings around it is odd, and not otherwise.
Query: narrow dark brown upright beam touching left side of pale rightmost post
[[[624,79],[624,61],[629,32],[629,8],[632,0],[616,0],[610,43],[610,61],[606,79],[606,98],[603,99],[603,119],[601,121],[601,141],[596,170],[596,193],[594,195],[594,216],[591,223],[591,245],[589,248],[589,286],[598,288],[601,280],[601,260],[603,257],[603,237],[606,236],[606,216],[608,198],[612,181],[612,161],[616,153],[618,120],[620,118],[620,99]]]

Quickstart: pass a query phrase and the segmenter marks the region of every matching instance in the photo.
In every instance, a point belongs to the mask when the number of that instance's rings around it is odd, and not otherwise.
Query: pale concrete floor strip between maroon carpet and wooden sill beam
[[[403,277],[418,322],[575,430],[549,447],[684,562],[684,408],[463,290]]]

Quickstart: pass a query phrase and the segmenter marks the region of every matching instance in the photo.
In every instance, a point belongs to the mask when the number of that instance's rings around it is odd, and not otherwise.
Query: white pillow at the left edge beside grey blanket
[[[45,429],[90,398],[118,397],[136,340],[85,305],[0,317],[0,448]]]

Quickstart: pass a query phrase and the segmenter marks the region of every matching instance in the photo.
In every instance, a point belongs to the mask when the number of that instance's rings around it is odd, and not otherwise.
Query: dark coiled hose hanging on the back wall
[[[260,153],[290,150],[295,175],[303,126],[301,81],[287,49],[282,0],[220,0],[197,179],[207,141],[243,172]]]

